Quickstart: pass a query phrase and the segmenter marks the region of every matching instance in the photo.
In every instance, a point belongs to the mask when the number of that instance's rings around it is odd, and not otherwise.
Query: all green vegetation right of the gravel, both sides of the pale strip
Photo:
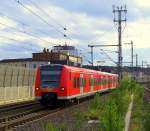
[[[131,95],[134,94],[134,104],[131,116],[131,131],[149,131],[150,130],[150,105],[143,102],[144,88],[129,78],[124,78],[118,89],[113,90],[104,99],[96,94],[89,104],[86,112],[75,112],[76,130],[83,129],[83,126],[90,120],[95,129],[100,131],[123,131],[125,127],[125,115],[131,101]],[[67,129],[67,125],[54,127],[52,124],[47,126],[47,131],[58,131]]]

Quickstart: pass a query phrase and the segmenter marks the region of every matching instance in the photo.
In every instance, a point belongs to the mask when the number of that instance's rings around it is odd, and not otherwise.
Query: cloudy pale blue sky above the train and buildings
[[[80,50],[87,63],[90,59],[88,44],[117,44],[112,6],[126,4],[127,23],[122,25],[122,43],[132,40],[139,64],[142,60],[150,62],[149,0],[19,0],[20,4],[16,1],[0,1],[0,59],[31,57],[32,52],[66,41]],[[64,39],[64,33],[68,38]],[[117,48],[105,50],[116,51]],[[100,48],[94,51],[95,64],[105,61],[100,64],[114,65]],[[108,55],[117,60],[117,54]],[[129,45],[123,44],[123,60],[130,61]]]

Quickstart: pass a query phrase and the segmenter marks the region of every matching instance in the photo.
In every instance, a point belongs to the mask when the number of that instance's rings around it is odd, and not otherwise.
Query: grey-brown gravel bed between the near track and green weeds
[[[105,98],[107,95],[102,95],[101,97]],[[100,99],[102,99],[101,97]],[[67,125],[67,129],[65,129],[65,131],[99,131],[95,124],[88,124],[87,121],[83,122],[80,128],[77,127],[78,120],[75,117],[75,113],[88,111],[91,101],[92,100],[84,101],[78,105],[68,107],[57,113],[50,114],[41,119],[18,126],[14,129],[14,131],[44,131],[43,126],[46,123],[52,123],[55,127]]]

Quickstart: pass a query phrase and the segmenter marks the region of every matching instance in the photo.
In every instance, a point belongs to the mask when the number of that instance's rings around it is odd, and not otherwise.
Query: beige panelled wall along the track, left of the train
[[[0,105],[34,99],[35,69],[0,65]]]

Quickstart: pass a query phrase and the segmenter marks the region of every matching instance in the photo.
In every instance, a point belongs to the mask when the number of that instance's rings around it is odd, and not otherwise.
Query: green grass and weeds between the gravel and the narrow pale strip
[[[82,118],[84,121],[99,120],[100,124],[98,126],[100,131],[122,131],[125,126],[124,120],[131,100],[131,94],[135,94],[137,103],[142,103],[143,87],[137,84],[136,81],[125,77],[121,81],[119,88],[112,91],[107,98],[100,99],[97,94],[89,105],[88,111],[78,114],[80,115],[78,118]],[[147,123],[149,121],[148,117],[144,121]]]

